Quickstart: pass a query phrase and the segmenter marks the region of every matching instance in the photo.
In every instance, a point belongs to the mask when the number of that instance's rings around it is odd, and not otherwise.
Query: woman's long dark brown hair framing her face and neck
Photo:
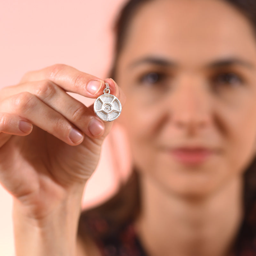
[[[114,31],[116,35],[115,54],[112,64],[112,69],[109,72],[109,77],[115,80],[116,63],[118,56],[122,50],[127,35],[127,29],[132,21],[132,18],[139,11],[140,7],[154,0],[130,0],[128,1],[119,16],[117,17]],[[240,12],[242,12],[252,24],[256,36],[256,0],[222,0],[230,3]],[[84,211],[81,214],[79,221],[78,233],[80,236],[100,236],[100,239],[108,239],[109,236],[114,236],[128,222],[134,220],[140,212],[140,177],[139,173],[134,169],[128,181],[123,184],[114,197],[106,203],[98,207]],[[247,167],[244,173],[244,221],[241,225],[240,232],[237,236],[236,247],[243,246],[243,239],[248,240],[256,236],[256,158]],[[100,232],[93,233],[93,228],[90,227],[90,221],[94,219],[95,223],[104,220],[105,225],[98,225]],[[98,222],[97,222],[98,221]],[[104,228],[105,227],[105,228]],[[95,228],[95,227],[94,227]],[[98,230],[98,231],[99,231]],[[99,237],[98,237],[99,238]]]

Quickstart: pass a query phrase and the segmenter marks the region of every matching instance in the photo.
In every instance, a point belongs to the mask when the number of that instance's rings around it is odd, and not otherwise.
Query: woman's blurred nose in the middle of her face
[[[171,105],[172,122],[177,128],[202,129],[211,122],[211,98],[202,82],[196,79],[177,85]]]

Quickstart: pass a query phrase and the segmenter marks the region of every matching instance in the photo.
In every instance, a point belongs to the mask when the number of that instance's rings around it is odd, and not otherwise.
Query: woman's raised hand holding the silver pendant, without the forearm
[[[104,82],[123,103],[112,79],[60,64],[29,72],[0,91],[0,182],[23,216],[43,220],[73,195],[82,196],[112,122],[102,122],[93,105],[66,92],[97,98]]]

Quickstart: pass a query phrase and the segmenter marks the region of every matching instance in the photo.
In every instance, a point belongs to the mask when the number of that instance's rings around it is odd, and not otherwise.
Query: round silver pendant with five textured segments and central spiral
[[[120,116],[122,106],[116,96],[110,94],[109,84],[105,83],[106,88],[94,102],[94,113],[99,116],[102,121],[110,122]]]

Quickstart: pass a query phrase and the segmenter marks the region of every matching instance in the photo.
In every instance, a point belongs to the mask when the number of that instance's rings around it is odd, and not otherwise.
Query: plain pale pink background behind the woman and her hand
[[[124,0],[1,1],[0,88],[17,84],[29,70],[55,63],[107,78],[113,53],[111,28],[123,3]],[[77,98],[88,104],[83,97]],[[112,195],[119,181],[127,177],[130,158],[124,136],[122,129],[115,126],[104,142],[100,164],[86,187],[83,207]],[[14,255],[12,198],[1,185],[0,207],[0,255]]]

